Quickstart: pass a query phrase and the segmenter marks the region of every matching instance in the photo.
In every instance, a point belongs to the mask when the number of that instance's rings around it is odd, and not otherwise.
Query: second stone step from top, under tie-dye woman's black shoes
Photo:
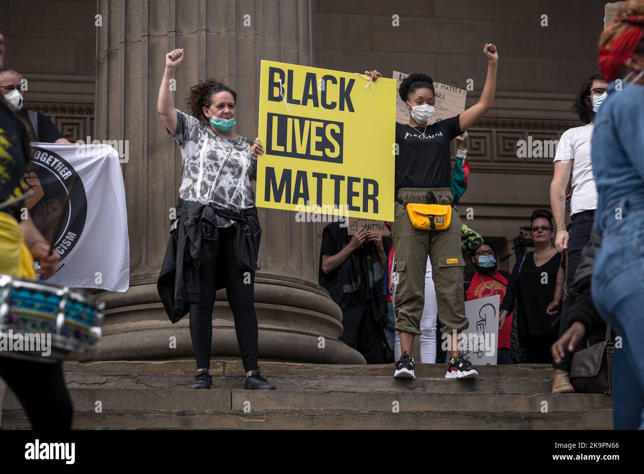
[[[243,387],[244,375],[214,375],[212,389],[236,390]],[[96,374],[66,372],[69,388],[187,388],[193,378],[187,374]],[[279,390],[334,392],[440,392],[440,393],[547,393],[550,379],[499,379],[477,377],[453,380],[444,377],[394,379],[392,375],[272,375],[269,381]],[[212,390],[211,389],[211,390]]]

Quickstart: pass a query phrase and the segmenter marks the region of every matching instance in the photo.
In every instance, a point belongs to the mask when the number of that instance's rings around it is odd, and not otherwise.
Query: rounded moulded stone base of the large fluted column
[[[167,318],[156,281],[134,284],[126,293],[106,293],[106,320],[98,361],[193,357],[189,316]],[[239,357],[225,290],[216,294],[212,355]],[[357,350],[337,340],[342,312],[318,285],[276,274],[256,274],[255,311],[260,359],[324,364],[366,364]]]

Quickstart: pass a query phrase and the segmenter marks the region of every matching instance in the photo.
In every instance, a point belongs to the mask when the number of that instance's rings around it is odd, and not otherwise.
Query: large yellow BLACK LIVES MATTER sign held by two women
[[[395,95],[393,79],[261,61],[258,207],[393,221]]]

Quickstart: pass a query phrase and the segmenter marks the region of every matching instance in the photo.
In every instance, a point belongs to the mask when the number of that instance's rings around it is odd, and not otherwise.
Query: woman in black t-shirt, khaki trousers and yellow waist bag
[[[486,44],[488,77],[477,104],[456,117],[430,123],[435,112],[433,80],[416,73],[406,77],[399,95],[410,112],[407,124],[396,124],[398,154],[395,162],[396,204],[392,237],[395,242],[398,285],[395,298],[396,325],[401,352],[395,363],[396,377],[414,377],[413,338],[420,335],[424,308],[427,256],[434,269],[433,281],[438,303],[440,331],[448,338],[450,362],[446,378],[478,375],[468,359],[460,354],[460,333],[468,328],[462,285],[460,216],[450,189],[450,142],[473,126],[491,109],[497,88],[498,53]],[[376,70],[365,71],[373,81]],[[452,212],[454,211],[454,212]]]

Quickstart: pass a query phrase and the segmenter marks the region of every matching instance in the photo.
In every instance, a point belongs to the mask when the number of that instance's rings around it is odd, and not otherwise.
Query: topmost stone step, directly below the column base
[[[417,364],[416,377],[444,377],[446,364]],[[274,375],[393,375],[393,364],[381,365],[340,365],[305,364],[291,362],[261,362],[261,373],[266,377]],[[97,374],[194,374],[194,359],[169,359],[163,361],[100,361],[67,362],[66,372],[91,372]],[[507,379],[546,379],[552,377],[553,369],[545,364],[482,365],[478,373],[486,377]],[[243,375],[242,363],[235,360],[211,361],[212,375]]]

